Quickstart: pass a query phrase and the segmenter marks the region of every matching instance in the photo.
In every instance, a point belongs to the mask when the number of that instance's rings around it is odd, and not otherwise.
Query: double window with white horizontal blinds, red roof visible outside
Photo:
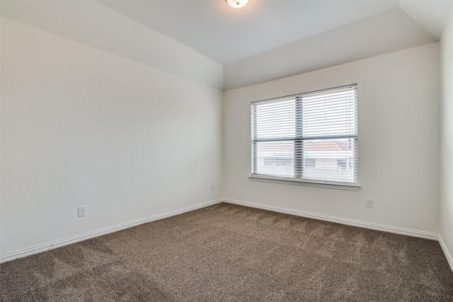
[[[357,86],[252,103],[252,178],[357,186]]]

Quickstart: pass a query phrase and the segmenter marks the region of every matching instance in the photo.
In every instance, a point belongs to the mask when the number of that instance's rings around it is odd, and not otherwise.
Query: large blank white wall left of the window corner
[[[221,91],[2,18],[1,255],[222,197],[221,136]]]

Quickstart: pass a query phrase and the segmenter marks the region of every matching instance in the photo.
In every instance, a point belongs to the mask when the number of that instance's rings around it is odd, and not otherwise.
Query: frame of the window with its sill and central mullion
[[[345,182],[345,181],[334,181],[334,180],[316,180],[314,178],[303,178],[304,177],[304,162],[306,159],[311,159],[309,157],[304,157],[304,147],[302,141],[308,140],[309,138],[304,137],[302,135],[302,125],[303,119],[302,117],[302,102],[303,100],[298,101],[298,99],[303,99],[304,95],[312,95],[314,93],[328,93],[330,91],[340,91],[341,89],[345,88],[353,88],[355,89],[355,135],[338,135],[338,139],[354,139],[355,140],[355,169],[353,171],[355,182]],[[266,100],[258,100],[251,103],[251,127],[252,127],[252,139],[251,139],[251,175],[249,176],[250,180],[254,181],[262,181],[262,182],[276,182],[276,183],[283,183],[289,185],[306,185],[306,186],[313,186],[313,187],[325,187],[331,189],[339,189],[339,190],[353,190],[358,191],[360,190],[360,184],[358,182],[358,91],[357,91],[357,84],[351,84],[347,86],[338,86],[334,88],[327,88],[321,89],[319,91],[309,91],[306,93],[297,93],[294,95],[285,95],[278,98],[270,98]],[[257,138],[257,112],[254,110],[254,106],[259,103],[265,102],[273,102],[278,100],[287,100],[289,98],[294,98],[294,155],[292,157],[294,162],[294,177],[288,176],[277,176],[277,175],[270,175],[270,174],[258,174],[254,173],[257,167],[258,156],[255,154],[258,152],[258,141],[262,141]],[[335,139],[336,137],[326,137],[326,139]],[[316,139],[323,139],[321,137],[316,137]],[[278,139],[269,139],[268,141],[278,141]],[[350,167],[350,158],[345,158],[345,168]],[[299,165],[297,165],[299,163]],[[343,167],[342,167],[343,168]]]

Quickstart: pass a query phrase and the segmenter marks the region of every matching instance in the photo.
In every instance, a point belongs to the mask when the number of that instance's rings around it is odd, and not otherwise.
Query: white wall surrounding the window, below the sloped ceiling
[[[357,83],[359,192],[254,182],[251,102]],[[225,197],[437,233],[439,46],[432,43],[224,92]],[[374,198],[374,209],[365,199]]]

